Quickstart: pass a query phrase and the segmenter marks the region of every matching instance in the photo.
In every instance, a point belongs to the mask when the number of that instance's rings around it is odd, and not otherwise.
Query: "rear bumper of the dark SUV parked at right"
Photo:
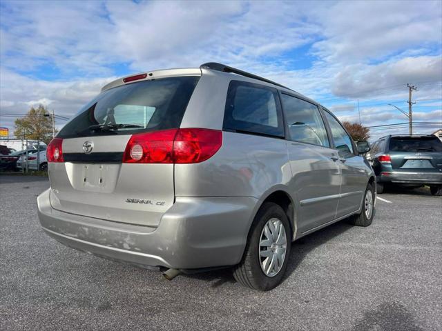
[[[381,172],[377,177],[382,183],[442,184],[442,172]]]

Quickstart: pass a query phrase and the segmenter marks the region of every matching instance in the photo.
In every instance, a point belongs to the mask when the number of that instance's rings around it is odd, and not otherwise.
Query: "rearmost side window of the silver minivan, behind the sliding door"
[[[278,92],[255,83],[231,81],[224,130],[284,137]]]

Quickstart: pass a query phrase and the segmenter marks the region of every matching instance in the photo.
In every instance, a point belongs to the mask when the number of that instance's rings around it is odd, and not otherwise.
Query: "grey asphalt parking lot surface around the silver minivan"
[[[442,330],[442,199],[382,194],[369,228],[294,243],[271,292],[229,270],[179,276],[77,252],[39,228],[42,177],[0,176],[1,330]]]

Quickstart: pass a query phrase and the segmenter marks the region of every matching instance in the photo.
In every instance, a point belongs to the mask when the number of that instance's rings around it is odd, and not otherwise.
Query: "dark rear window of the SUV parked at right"
[[[437,137],[392,137],[391,152],[442,152],[442,142]]]

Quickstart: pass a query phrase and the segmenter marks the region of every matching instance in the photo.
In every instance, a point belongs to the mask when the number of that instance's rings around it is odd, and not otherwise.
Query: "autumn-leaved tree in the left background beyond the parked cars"
[[[52,139],[52,114],[43,105],[31,107],[28,114],[15,120],[14,134],[16,137],[48,143]]]

